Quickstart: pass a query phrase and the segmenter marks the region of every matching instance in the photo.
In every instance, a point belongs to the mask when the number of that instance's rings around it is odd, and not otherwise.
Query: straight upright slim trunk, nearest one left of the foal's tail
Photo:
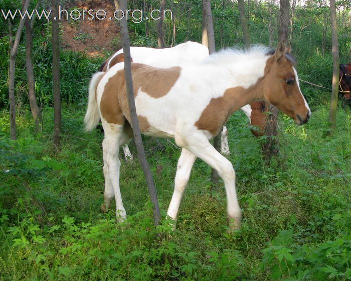
[[[53,45],[53,94],[54,94],[54,145],[60,147],[61,88],[60,88],[60,41],[58,1],[52,0],[52,45]],[[56,19],[55,19],[56,18]]]

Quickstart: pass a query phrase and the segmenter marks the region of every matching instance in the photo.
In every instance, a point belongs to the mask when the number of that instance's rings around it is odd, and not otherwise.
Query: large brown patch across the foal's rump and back
[[[155,68],[148,65],[133,63],[131,65],[134,97],[139,89],[153,98],[166,95],[177,82],[181,68]],[[100,110],[102,117],[109,123],[124,124],[125,118],[130,123],[127,89],[124,70],[119,70],[109,78],[102,93]],[[143,120],[144,128],[147,128]],[[147,119],[146,119],[147,121]]]

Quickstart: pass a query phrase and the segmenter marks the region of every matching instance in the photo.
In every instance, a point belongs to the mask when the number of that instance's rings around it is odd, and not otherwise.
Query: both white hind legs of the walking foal
[[[119,169],[121,162],[118,159],[118,150],[123,134],[123,126],[118,124],[104,124],[105,138],[102,142],[104,157],[105,192],[101,210],[109,207],[113,197],[116,200],[116,214],[122,219],[126,217],[119,188]]]

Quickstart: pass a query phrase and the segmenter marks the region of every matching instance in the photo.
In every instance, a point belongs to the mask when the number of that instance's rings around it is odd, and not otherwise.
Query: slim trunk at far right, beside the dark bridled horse
[[[333,78],[329,109],[329,134],[333,133],[336,121],[337,95],[339,90],[339,49],[337,43],[335,0],[330,0],[331,46],[333,56]]]

